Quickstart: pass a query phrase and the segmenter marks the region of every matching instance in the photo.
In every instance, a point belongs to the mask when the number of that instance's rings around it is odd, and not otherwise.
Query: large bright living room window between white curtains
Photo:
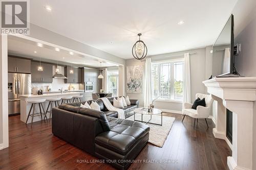
[[[183,61],[152,63],[153,99],[183,99]]]

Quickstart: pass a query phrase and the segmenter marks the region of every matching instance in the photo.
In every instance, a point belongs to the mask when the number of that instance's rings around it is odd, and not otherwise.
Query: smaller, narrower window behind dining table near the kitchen
[[[113,96],[118,96],[118,70],[109,70],[109,91],[112,92]]]

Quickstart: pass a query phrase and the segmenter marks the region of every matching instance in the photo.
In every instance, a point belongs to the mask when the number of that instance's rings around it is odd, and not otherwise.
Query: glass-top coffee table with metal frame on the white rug
[[[136,120],[135,119],[135,114],[141,114],[141,120]],[[151,123],[150,120],[152,119],[152,115],[159,115],[161,114],[161,124],[155,124],[155,123]],[[145,122],[143,121],[143,115],[150,115],[150,119]],[[136,108],[134,109],[134,121],[137,121],[137,122],[141,122],[141,123],[145,123],[145,124],[154,124],[154,125],[163,125],[163,113],[160,109],[152,109],[152,111],[148,112],[148,109],[147,108]]]

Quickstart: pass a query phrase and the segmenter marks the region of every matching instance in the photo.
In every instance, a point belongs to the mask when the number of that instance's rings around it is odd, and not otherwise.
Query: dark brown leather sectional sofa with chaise
[[[80,108],[85,102],[53,108],[52,133],[118,169],[127,169],[146,145],[150,128],[117,118],[117,113],[109,112],[100,99],[96,102],[101,111]],[[124,108],[125,117],[133,115],[131,112],[138,107],[137,100],[131,103],[133,105]]]

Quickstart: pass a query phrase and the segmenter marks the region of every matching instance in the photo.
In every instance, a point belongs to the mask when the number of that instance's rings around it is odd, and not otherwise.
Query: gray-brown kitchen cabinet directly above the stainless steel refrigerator
[[[8,72],[31,73],[31,60],[8,57]]]

